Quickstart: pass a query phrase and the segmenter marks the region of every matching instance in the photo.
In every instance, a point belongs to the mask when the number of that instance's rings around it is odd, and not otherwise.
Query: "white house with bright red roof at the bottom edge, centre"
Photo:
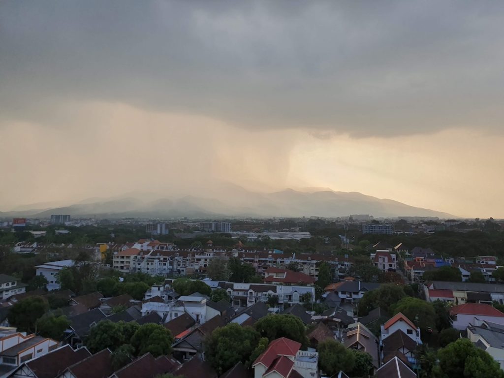
[[[318,378],[319,353],[300,348],[300,343],[285,337],[273,340],[252,364],[254,377]]]

